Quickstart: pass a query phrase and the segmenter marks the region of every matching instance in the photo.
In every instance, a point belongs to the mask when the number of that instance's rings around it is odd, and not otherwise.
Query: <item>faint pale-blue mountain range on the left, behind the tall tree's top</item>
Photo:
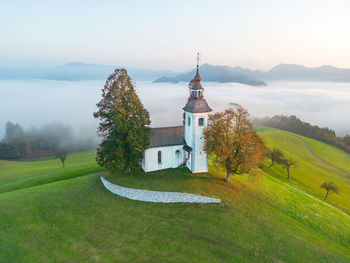
[[[73,62],[57,67],[0,68],[0,79],[95,80],[106,79],[118,66]],[[134,80],[154,80],[177,72],[127,68]]]

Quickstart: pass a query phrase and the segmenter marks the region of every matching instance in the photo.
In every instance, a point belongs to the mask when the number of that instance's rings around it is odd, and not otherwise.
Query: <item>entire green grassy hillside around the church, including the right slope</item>
[[[298,160],[290,181],[278,166],[234,176],[230,184],[212,165],[201,175],[186,169],[111,175],[92,152],[70,155],[64,169],[50,158],[0,161],[0,262],[349,262],[349,178],[295,135],[258,130],[269,146]],[[341,151],[308,142],[324,159],[335,151],[337,165],[349,169]],[[131,201],[106,191],[101,175],[123,186],[223,202]],[[325,178],[341,190],[327,202],[319,189]]]

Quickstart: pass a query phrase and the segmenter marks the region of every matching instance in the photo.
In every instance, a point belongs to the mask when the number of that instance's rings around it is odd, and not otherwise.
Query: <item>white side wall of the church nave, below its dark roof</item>
[[[179,150],[180,153],[176,153]],[[158,163],[158,151],[161,151],[161,163]],[[142,160],[142,169],[145,172],[167,168],[177,168],[184,161],[185,150],[183,145],[149,148],[145,151]]]

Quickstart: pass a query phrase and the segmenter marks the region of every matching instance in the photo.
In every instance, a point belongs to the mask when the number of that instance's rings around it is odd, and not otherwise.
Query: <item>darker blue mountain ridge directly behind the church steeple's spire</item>
[[[200,74],[203,81],[211,82],[237,82],[247,84],[251,86],[264,86],[266,83],[259,80],[257,76],[263,75],[262,71],[252,71],[250,69],[243,69],[240,67],[228,67],[228,66],[212,66],[209,64],[203,64],[200,66]],[[193,79],[195,70],[190,72],[181,73],[174,77],[163,76],[156,79],[154,82],[189,82]]]

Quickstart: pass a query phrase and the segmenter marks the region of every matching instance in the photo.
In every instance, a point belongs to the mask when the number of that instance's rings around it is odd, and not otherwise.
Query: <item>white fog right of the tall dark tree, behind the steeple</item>
[[[252,87],[237,83],[203,83],[214,111],[238,103],[253,117],[296,115],[313,125],[350,133],[350,83],[269,82]],[[137,90],[150,109],[153,126],[181,125],[182,108],[189,95],[187,83],[138,83]]]

